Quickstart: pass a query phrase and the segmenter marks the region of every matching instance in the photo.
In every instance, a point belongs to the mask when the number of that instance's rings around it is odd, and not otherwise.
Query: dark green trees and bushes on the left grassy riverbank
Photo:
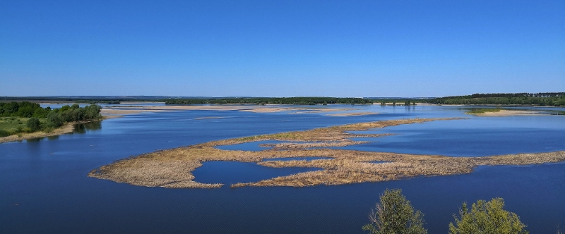
[[[20,117],[20,118],[40,118],[47,119],[46,125],[40,126],[41,130],[44,128],[57,128],[66,122],[73,121],[93,121],[102,118],[100,110],[102,108],[98,105],[92,104],[85,107],[79,107],[78,104],[72,106],[66,105],[60,109],[51,109],[47,106],[42,108],[40,104],[21,101],[21,102],[6,102],[0,103],[0,116],[3,117]]]

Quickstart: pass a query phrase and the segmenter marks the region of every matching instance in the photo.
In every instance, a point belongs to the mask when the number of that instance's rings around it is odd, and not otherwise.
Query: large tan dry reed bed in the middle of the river
[[[351,183],[400,180],[417,176],[446,176],[470,173],[481,165],[525,165],[565,161],[565,152],[538,154],[511,154],[485,157],[449,157],[438,155],[395,154],[383,152],[362,152],[343,149],[304,149],[353,144],[349,138],[364,137],[363,134],[347,133],[392,125],[424,123],[427,121],[451,120],[456,118],[403,119],[355,123],[329,128],[257,135],[228,140],[219,140],[142,154],[116,161],[91,171],[88,176],[130,183],[148,187],[191,187],[213,188],[222,184],[206,184],[194,181],[191,171],[206,161],[257,162],[268,167],[310,167],[320,171],[297,173],[255,183],[237,183],[232,187],[243,186],[293,186],[343,185]],[[379,136],[379,135],[371,135]],[[275,148],[251,152],[222,150],[219,145],[240,144],[261,140],[284,140],[291,143],[275,144]],[[296,143],[295,143],[296,142]],[[302,143],[299,143],[302,142]],[[306,142],[306,143],[304,143]],[[263,159],[321,156],[331,159],[262,161]],[[374,161],[386,161],[374,163]]]

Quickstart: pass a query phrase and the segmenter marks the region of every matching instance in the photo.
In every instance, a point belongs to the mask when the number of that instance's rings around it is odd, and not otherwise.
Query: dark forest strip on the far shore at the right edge
[[[428,99],[425,102],[447,105],[565,106],[565,92],[472,94]]]

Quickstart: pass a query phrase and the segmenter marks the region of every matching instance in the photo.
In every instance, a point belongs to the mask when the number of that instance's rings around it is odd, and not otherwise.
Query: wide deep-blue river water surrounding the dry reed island
[[[56,106],[54,106],[56,107]],[[290,107],[290,106],[286,106]],[[296,107],[296,106],[292,106]],[[304,106],[303,106],[304,107]],[[311,107],[311,106],[305,106]],[[316,187],[241,187],[303,168],[208,162],[196,181],[219,189],[139,187],[89,178],[112,161],[160,149],[266,133],[399,118],[470,117],[399,125],[369,144],[377,152],[489,156],[565,150],[565,116],[475,117],[469,106],[316,106],[370,116],[245,111],[140,113],[78,126],[76,133],[0,144],[0,233],[363,233],[379,195],[400,188],[425,215],[429,233],[447,233],[463,202],[502,197],[530,233],[565,227],[565,164],[482,166],[459,176]],[[559,110],[564,108],[530,108]],[[222,117],[204,118],[202,117]],[[363,139],[366,140],[366,139]],[[256,150],[256,145],[233,146]]]

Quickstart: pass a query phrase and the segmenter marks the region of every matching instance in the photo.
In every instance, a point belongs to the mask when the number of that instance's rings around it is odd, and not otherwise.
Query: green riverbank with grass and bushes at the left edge
[[[98,120],[102,118],[100,109],[94,104],[85,107],[73,104],[51,109],[29,101],[0,103],[0,137],[40,130],[49,133],[65,123]]]

